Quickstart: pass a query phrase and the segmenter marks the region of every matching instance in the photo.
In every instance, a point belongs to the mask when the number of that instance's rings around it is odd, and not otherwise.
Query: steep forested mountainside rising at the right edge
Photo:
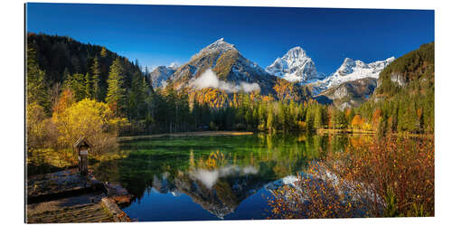
[[[435,43],[420,45],[380,73],[372,97],[357,111],[382,112],[381,127],[398,133],[435,131]]]

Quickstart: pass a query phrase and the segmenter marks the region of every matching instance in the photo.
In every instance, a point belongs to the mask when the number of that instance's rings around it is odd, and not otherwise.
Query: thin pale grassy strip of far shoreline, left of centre
[[[129,137],[117,137],[118,141],[129,141],[136,139],[150,139],[161,137],[211,137],[211,136],[245,136],[253,135],[253,132],[243,131],[197,131],[197,132],[181,132],[181,133],[165,133],[154,135],[141,135],[141,136],[129,136]]]

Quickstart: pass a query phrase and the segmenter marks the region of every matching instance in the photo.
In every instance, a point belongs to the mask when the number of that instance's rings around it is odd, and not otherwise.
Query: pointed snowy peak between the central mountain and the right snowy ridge
[[[306,82],[324,79],[324,74],[317,72],[314,61],[299,46],[290,49],[283,57],[268,65],[265,70],[288,81]]]

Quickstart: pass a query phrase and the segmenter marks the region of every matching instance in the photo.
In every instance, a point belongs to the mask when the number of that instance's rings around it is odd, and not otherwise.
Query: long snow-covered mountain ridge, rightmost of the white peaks
[[[320,94],[326,89],[336,87],[348,81],[364,78],[378,79],[380,72],[394,60],[395,57],[391,57],[384,61],[374,61],[367,64],[363,61],[353,61],[350,58],[345,58],[343,64],[332,75],[328,76],[325,80],[313,83],[313,93]]]

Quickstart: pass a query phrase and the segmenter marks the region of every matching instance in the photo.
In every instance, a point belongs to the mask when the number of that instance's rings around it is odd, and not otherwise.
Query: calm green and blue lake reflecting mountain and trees
[[[348,142],[306,134],[134,140],[94,172],[135,196],[122,208],[137,221],[266,219],[272,190]]]

